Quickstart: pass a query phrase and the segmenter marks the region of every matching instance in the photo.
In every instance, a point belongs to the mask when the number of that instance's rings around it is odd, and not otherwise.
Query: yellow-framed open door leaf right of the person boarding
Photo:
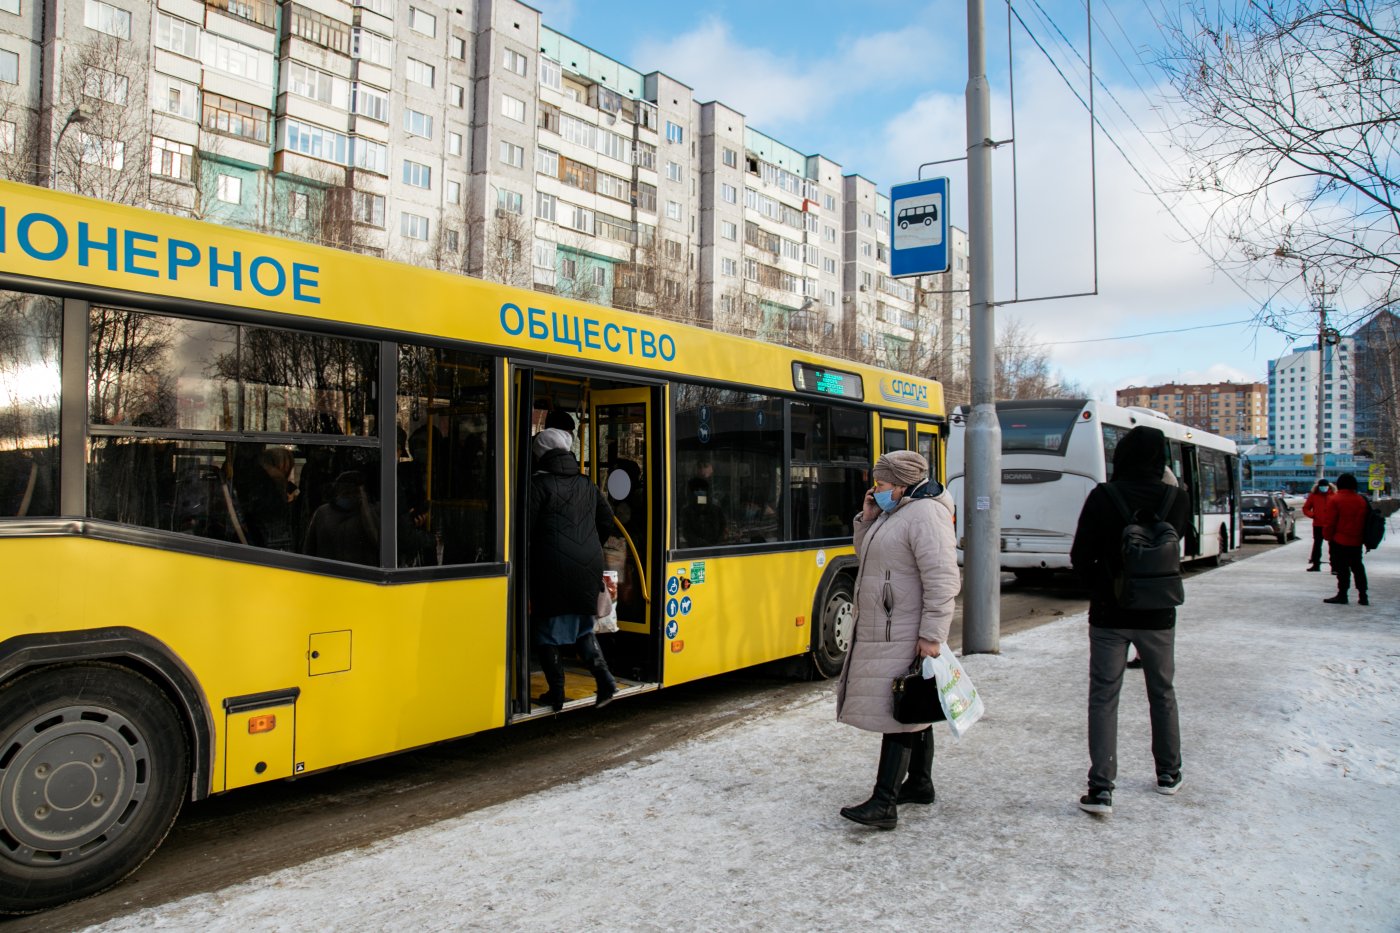
[[[657,681],[651,601],[662,496],[652,389],[595,389],[589,426],[594,481],[616,518],[615,534],[603,545],[603,569],[617,574],[617,636],[605,646],[608,663],[615,672]]]

